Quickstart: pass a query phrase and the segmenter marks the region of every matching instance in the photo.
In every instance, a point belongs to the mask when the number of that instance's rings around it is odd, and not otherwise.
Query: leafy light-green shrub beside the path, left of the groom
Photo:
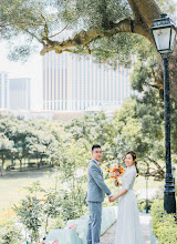
[[[67,174],[64,173],[66,169]],[[18,222],[22,224],[31,242],[39,242],[50,228],[61,227],[69,220],[77,218],[87,211],[84,202],[85,172],[81,175],[76,170],[81,170],[79,165],[70,164],[54,169],[49,174],[54,187],[44,190],[39,182],[34,182],[27,187],[30,194],[14,206]]]

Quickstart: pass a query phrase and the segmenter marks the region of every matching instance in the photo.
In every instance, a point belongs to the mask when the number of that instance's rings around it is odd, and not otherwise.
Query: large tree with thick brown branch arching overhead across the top
[[[18,52],[28,55],[35,39],[42,44],[41,55],[51,51],[85,52],[116,63],[123,57],[131,57],[136,42],[140,44],[143,39],[154,45],[149,28],[164,10],[175,11],[175,3],[168,3],[164,0],[3,0],[0,34],[11,40],[17,34],[25,37],[23,44],[11,44],[13,59]],[[65,40],[60,38],[63,27],[73,30]],[[170,91],[177,100],[176,44],[169,64]],[[160,65],[157,72],[158,84],[163,85]]]

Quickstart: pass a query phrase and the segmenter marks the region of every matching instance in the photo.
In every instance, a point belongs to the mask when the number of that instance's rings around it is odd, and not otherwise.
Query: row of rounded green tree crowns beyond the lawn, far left
[[[53,126],[53,128],[52,128]],[[0,116],[1,159],[50,159],[60,152],[60,132],[43,122],[25,122],[17,118]],[[51,130],[51,131],[50,131]],[[2,153],[3,152],[3,153]]]

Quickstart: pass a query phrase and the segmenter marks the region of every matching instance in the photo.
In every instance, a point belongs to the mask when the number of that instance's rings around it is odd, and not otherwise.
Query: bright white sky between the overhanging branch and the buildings
[[[177,4],[177,0],[174,0],[174,2]],[[31,109],[42,110],[42,57],[40,55],[40,50],[39,53],[33,54],[28,62],[22,64],[20,62],[9,61],[6,43],[0,44],[0,72],[8,72],[10,79],[31,78]]]

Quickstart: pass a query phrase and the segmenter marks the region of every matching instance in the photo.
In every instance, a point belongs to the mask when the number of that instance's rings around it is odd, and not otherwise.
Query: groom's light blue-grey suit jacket
[[[96,161],[91,160],[87,167],[87,202],[103,202],[111,191],[103,180],[103,172]]]

